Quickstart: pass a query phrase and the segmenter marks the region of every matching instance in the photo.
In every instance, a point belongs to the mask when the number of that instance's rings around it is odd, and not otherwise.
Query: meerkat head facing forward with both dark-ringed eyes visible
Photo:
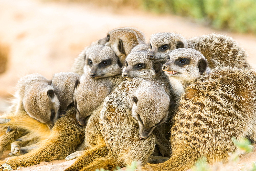
[[[91,78],[115,76],[121,73],[119,58],[109,46],[93,45],[85,53],[84,72]]]

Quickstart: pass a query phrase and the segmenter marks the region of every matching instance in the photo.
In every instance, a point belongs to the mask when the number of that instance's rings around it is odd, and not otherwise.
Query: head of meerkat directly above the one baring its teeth
[[[167,54],[178,48],[187,48],[187,40],[177,33],[156,33],[150,37],[148,58],[156,61],[167,61]]]

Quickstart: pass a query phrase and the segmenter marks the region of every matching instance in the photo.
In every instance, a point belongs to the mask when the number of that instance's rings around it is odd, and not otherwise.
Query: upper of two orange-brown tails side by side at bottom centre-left
[[[99,157],[104,157],[107,154],[108,150],[106,148],[106,144],[102,142],[92,149],[85,150],[83,154],[78,157],[76,162],[74,162],[65,171],[81,170],[83,167],[89,165],[92,161],[97,160]]]

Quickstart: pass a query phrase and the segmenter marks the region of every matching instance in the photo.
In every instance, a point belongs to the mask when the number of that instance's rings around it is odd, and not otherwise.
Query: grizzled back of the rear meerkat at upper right
[[[250,67],[247,53],[233,38],[223,34],[207,34],[188,40],[188,47],[201,52],[209,67]]]

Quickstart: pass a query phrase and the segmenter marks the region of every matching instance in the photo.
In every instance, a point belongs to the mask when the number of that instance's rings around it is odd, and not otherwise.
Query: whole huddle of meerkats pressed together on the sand
[[[254,140],[256,71],[231,37],[186,39],[123,27],[84,48],[71,72],[20,79],[0,116],[0,154],[13,169],[78,159],[68,170],[186,170],[228,161]],[[4,164],[5,161],[0,161]],[[1,169],[1,168],[0,168]]]

